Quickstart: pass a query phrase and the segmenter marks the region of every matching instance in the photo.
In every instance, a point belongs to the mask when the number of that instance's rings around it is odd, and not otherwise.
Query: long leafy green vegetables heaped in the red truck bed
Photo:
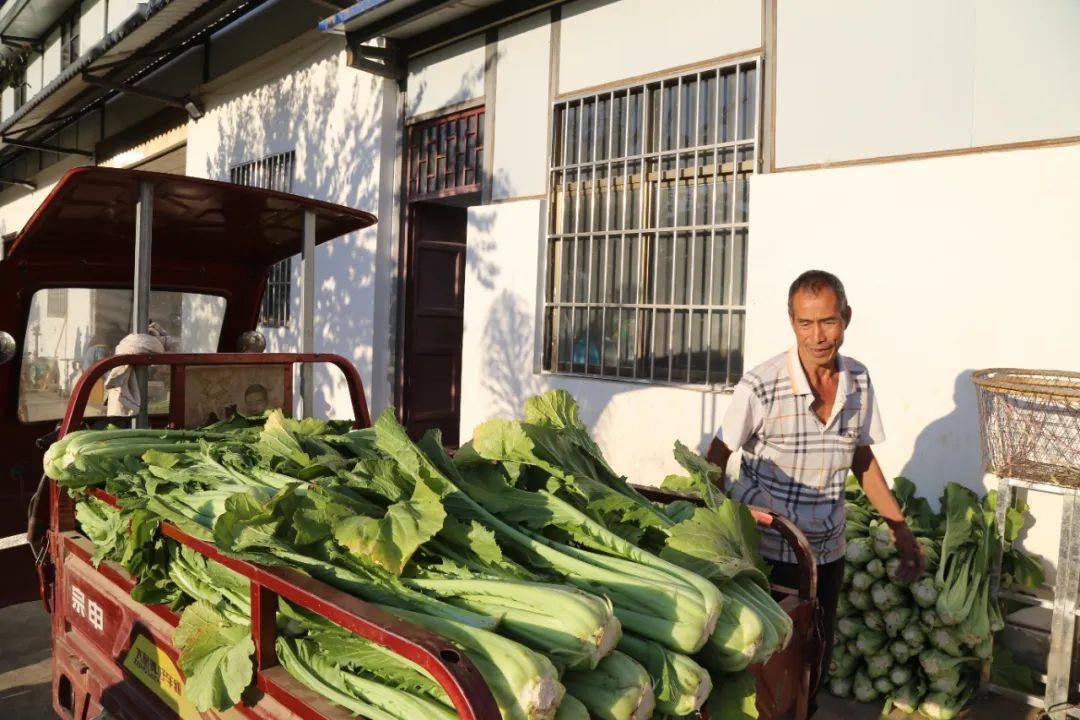
[[[654,503],[618,475],[569,394],[531,398],[451,459],[375,426],[271,411],[199,431],[82,431],[45,456],[78,501],[95,561],[138,579],[135,599],[180,611],[174,636],[200,710],[253,677],[247,581],[164,538],[166,520],[226,555],[300,570],[453,641],[507,720],[754,718],[752,663],[792,623],[768,592],[748,510],[719,468],[676,444],[686,470]],[[87,493],[104,488],[112,507]],[[421,667],[281,603],[276,651],[297,680],[372,720],[450,719]]]

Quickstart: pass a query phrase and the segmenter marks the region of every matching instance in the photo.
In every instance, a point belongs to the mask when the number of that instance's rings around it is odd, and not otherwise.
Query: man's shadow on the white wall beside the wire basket
[[[919,487],[919,492],[932,503],[945,490],[945,483],[955,481],[968,487],[978,487],[983,477],[980,456],[978,407],[972,370],[956,377],[953,388],[954,408],[922,429],[915,438],[915,448],[901,475]],[[888,422],[888,417],[886,418]],[[888,425],[886,426],[888,432]],[[947,472],[942,473],[942,468]],[[923,478],[944,477],[936,486],[929,486]]]

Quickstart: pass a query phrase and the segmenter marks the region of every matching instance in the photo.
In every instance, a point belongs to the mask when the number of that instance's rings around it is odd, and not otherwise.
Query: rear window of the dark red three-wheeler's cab
[[[111,357],[129,335],[131,314],[130,289],[63,287],[35,293],[23,342],[18,419],[63,418],[79,377],[97,361]],[[172,352],[216,352],[224,317],[225,298],[166,290],[150,294],[150,321],[175,343]],[[167,412],[168,382],[167,368],[150,369],[151,413]],[[98,380],[86,403],[86,417],[105,415],[106,402],[104,381]]]

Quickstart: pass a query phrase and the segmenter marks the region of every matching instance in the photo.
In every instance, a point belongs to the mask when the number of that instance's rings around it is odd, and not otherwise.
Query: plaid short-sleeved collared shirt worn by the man
[[[810,409],[813,393],[793,348],[743,375],[717,433],[729,448],[742,450],[731,498],[792,520],[819,565],[843,556],[843,484],[855,448],[885,439],[866,368],[842,355],[837,362],[836,400],[827,422]],[[761,534],[765,557],[795,561],[779,533],[765,529]]]

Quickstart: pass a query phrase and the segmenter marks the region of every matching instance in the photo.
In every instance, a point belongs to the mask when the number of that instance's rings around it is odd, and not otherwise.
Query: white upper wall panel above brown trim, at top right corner
[[[1069,0],[781,2],[780,167],[1080,135]]]

